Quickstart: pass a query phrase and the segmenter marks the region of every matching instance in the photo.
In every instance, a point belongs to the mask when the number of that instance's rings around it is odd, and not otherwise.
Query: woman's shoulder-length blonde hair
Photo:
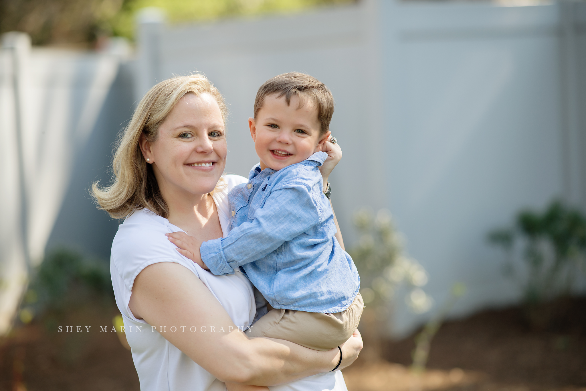
[[[123,219],[142,208],[162,217],[169,216],[169,208],[161,195],[152,166],[145,162],[138,143],[142,134],[148,141],[156,141],[159,126],[177,102],[189,93],[213,96],[226,123],[228,110],[224,98],[202,74],[172,77],[156,84],[142,98],[130,124],[117,140],[111,185],[103,187],[96,182],[91,186],[91,195],[100,209],[116,219]]]

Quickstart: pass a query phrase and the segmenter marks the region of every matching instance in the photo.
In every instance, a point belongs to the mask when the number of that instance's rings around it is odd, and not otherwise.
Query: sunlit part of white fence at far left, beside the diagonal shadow
[[[0,51],[0,335],[42,261],[74,168],[119,56],[32,49],[24,33]],[[91,222],[84,222],[91,224]]]

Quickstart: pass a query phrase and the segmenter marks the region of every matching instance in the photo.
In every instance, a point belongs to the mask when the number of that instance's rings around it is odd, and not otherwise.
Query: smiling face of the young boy
[[[288,105],[284,96],[277,98],[273,94],[265,97],[257,118],[248,118],[261,169],[269,167],[278,171],[322,150],[331,132],[320,136],[321,124],[315,104],[307,101],[303,107],[298,107],[297,95],[291,97]]]

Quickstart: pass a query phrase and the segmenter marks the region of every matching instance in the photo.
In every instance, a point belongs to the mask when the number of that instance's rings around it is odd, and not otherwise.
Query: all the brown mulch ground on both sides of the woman
[[[586,298],[563,319],[536,331],[519,308],[484,311],[442,325],[428,370],[410,371],[414,338],[383,344],[383,360],[343,371],[349,391],[586,391]],[[90,332],[30,324],[0,340],[0,390],[139,390],[130,352],[113,332],[99,332],[114,308],[88,305],[60,321]],[[414,335],[416,335],[415,333]]]

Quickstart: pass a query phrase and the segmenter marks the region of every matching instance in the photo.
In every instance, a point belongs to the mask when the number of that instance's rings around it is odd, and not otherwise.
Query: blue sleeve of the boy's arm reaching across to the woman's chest
[[[235,227],[227,237],[202,243],[203,263],[213,274],[233,273],[317,225],[321,213],[310,191],[301,183],[272,191],[263,208],[255,210],[253,221]]]

